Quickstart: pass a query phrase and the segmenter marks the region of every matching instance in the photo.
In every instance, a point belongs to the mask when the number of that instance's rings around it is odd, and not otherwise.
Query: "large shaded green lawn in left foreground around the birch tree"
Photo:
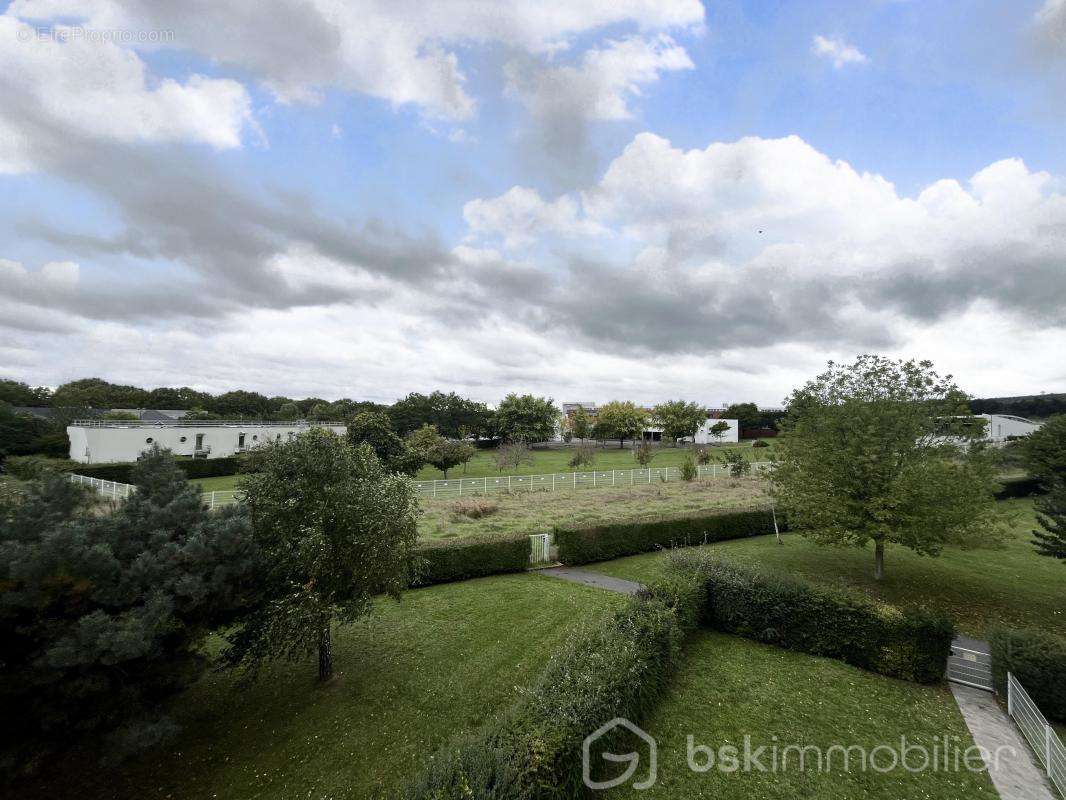
[[[183,730],[159,751],[111,771],[71,757],[16,794],[375,797],[451,736],[505,708],[575,624],[621,599],[536,574],[407,592],[337,631],[330,685],[316,685],[311,660],[271,666],[248,688],[210,674],[179,698],[174,715]]]

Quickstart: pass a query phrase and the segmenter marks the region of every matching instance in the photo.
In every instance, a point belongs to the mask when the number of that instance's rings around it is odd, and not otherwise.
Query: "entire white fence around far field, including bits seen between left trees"
[[[761,471],[773,462],[752,462],[752,469]],[[731,475],[725,464],[696,467],[696,480],[715,480]],[[75,483],[92,486],[99,494],[112,499],[125,499],[136,491],[129,483],[106,481],[84,475],[69,474]],[[609,489],[612,486],[641,486],[651,483],[677,483],[684,478],[681,467],[649,467],[647,469],[592,469],[582,473],[552,473],[549,475],[501,475],[484,478],[455,478],[452,480],[415,481],[420,497],[447,499],[450,497],[478,497],[489,494],[524,492],[561,492],[575,489]],[[219,508],[238,502],[241,491],[237,489],[205,492],[201,497],[208,508]]]

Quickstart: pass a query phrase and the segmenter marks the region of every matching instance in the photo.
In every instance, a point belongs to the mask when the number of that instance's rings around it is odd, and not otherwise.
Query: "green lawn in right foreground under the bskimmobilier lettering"
[[[951,693],[943,687],[893,681],[840,661],[722,634],[693,637],[666,699],[644,727],[659,743],[659,781],[644,790],[615,789],[607,795],[612,800],[998,798],[987,773],[969,772],[965,767],[957,772],[909,772],[903,768],[863,771],[853,751],[852,768],[845,771],[839,750],[823,770],[817,768],[813,751],[806,751],[804,770],[798,767],[795,749],[786,762],[784,749],[789,746],[812,746],[823,752],[833,745],[860,746],[869,752],[886,745],[899,752],[902,736],[906,736],[908,745],[930,749],[934,741],[949,736],[958,737],[953,746],[965,751],[973,740]],[[749,736],[753,751],[766,747],[761,759],[766,771],[742,768],[726,773],[715,768],[694,772],[688,767],[688,736],[715,752],[723,745],[731,745],[741,754],[744,737]],[[773,772],[771,748],[775,743],[779,768]],[[918,753],[908,752],[908,763],[918,764]],[[874,758],[883,767],[891,762],[884,750],[877,751]],[[646,769],[646,762],[642,762],[635,773],[637,780],[647,775]]]

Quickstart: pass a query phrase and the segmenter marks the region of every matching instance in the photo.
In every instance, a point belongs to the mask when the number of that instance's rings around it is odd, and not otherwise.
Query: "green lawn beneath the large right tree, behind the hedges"
[[[1030,540],[1035,525],[1033,500],[1005,500],[1012,512],[1012,538],[1002,549],[946,548],[938,558],[918,556],[889,545],[885,579],[873,579],[873,549],[824,547],[798,534],[758,537],[713,545],[716,553],[742,562],[758,562],[807,580],[840,581],[895,605],[925,604],[943,608],[959,629],[981,637],[988,625],[1030,625],[1066,635],[1066,564],[1037,556]],[[597,572],[632,580],[653,580],[665,555],[648,554],[595,565]]]

